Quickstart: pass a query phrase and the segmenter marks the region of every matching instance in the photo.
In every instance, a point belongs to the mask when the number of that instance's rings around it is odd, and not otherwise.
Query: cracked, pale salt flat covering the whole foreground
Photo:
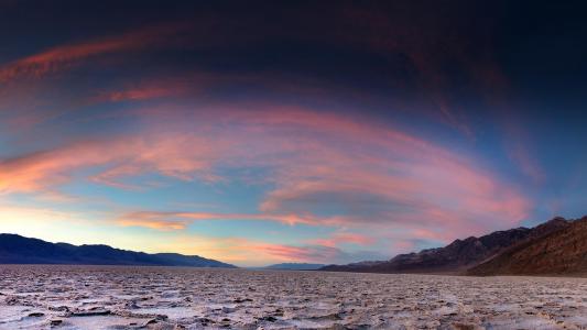
[[[0,329],[577,329],[587,279],[0,265]]]

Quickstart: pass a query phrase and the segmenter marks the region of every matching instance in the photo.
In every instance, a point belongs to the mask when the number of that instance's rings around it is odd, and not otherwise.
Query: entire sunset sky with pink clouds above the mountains
[[[555,2],[0,0],[0,232],[260,266],[579,218]]]

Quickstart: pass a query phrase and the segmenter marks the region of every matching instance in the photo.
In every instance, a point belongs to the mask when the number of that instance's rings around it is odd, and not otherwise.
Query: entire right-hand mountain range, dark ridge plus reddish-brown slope
[[[583,241],[581,241],[583,240]],[[547,252],[547,253],[546,253]],[[580,272],[587,255],[587,217],[554,218],[534,228],[515,228],[465,240],[444,248],[400,254],[389,261],[328,265],[320,271],[430,274],[561,274]],[[553,258],[553,260],[552,260]]]

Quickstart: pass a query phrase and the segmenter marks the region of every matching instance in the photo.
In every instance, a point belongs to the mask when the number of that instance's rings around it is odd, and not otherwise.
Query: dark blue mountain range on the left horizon
[[[197,255],[134,252],[108,245],[50,243],[17,234],[0,234],[0,264],[83,264],[224,267],[236,266]]]

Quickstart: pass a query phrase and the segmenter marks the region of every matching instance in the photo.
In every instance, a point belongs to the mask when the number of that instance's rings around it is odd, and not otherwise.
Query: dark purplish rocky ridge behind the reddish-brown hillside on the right
[[[400,254],[390,261],[363,262],[349,265],[329,265],[322,271],[366,273],[463,273],[488,261],[512,245],[541,238],[568,224],[563,218],[555,218],[532,229],[515,228],[453,243],[438,249],[417,253]]]

